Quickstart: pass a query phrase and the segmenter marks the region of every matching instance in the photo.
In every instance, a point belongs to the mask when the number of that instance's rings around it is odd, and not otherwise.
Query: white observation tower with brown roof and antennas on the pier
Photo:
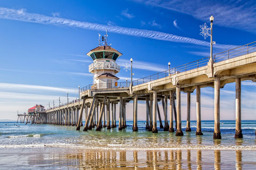
[[[120,66],[116,64],[116,60],[122,53],[111,47],[107,43],[107,30],[106,35],[99,34],[99,46],[90,50],[87,53],[93,60],[89,65],[89,72],[93,73],[93,87],[94,89],[106,89],[117,87],[116,74],[120,71]],[[101,45],[103,43],[103,45]]]

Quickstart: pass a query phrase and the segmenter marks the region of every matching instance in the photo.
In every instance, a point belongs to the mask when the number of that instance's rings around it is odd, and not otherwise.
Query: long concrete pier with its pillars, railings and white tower
[[[118,130],[126,128],[126,114],[133,115],[133,131],[138,131],[138,101],[145,101],[146,126],[148,131],[157,133],[159,128],[177,136],[181,129],[181,92],[187,93],[187,128],[190,129],[190,94],[196,90],[196,135],[203,135],[201,129],[201,88],[214,88],[214,139],[221,139],[220,130],[220,89],[226,84],[236,83],[236,131],[235,138],[243,138],[241,129],[241,81],[256,81],[256,41],[222,53],[205,57],[166,71],[131,82],[118,82],[115,76],[119,66],[115,60],[121,56],[116,49],[99,46],[87,55],[94,63],[89,71],[94,74],[94,84],[79,91],[79,100],[64,106],[48,109],[41,123],[76,126],[76,130],[116,128],[116,109],[119,109]],[[108,58],[108,55],[111,57]],[[103,55],[103,56],[102,56]],[[98,57],[98,58],[97,58]],[[106,57],[106,58],[105,58]],[[132,61],[131,61],[132,62]],[[111,81],[107,80],[111,78]],[[169,103],[168,103],[169,99]],[[133,101],[133,113],[126,113],[126,103]],[[176,101],[176,102],[175,102]],[[164,111],[164,126],[159,114],[158,103]],[[119,104],[119,108],[116,108]],[[170,107],[167,113],[167,107]],[[203,113],[204,114],[204,113]],[[82,119],[85,118],[85,124]],[[168,120],[169,117],[169,120]],[[174,117],[174,118],[173,118]],[[175,128],[173,126],[175,120]],[[102,122],[103,121],[103,122]],[[111,122],[111,123],[110,123]],[[107,123],[107,124],[106,124]],[[255,132],[256,134],[256,132]]]

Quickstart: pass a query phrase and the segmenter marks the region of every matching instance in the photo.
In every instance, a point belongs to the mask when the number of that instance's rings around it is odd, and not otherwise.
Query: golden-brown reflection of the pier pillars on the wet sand
[[[233,152],[233,153],[231,153]],[[30,165],[51,169],[242,169],[242,150],[79,150],[38,155]],[[234,156],[231,160],[230,154]],[[224,155],[224,156],[221,156]],[[226,158],[229,162],[225,162]],[[250,162],[247,167],[256,167]]]

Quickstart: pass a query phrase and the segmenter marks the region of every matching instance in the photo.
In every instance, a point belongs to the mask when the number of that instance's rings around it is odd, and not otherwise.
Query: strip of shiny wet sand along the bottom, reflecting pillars
[[[2,149],[0,169],[255,169],[248,150]],[[19,161],[15,161],[19,160]]]

